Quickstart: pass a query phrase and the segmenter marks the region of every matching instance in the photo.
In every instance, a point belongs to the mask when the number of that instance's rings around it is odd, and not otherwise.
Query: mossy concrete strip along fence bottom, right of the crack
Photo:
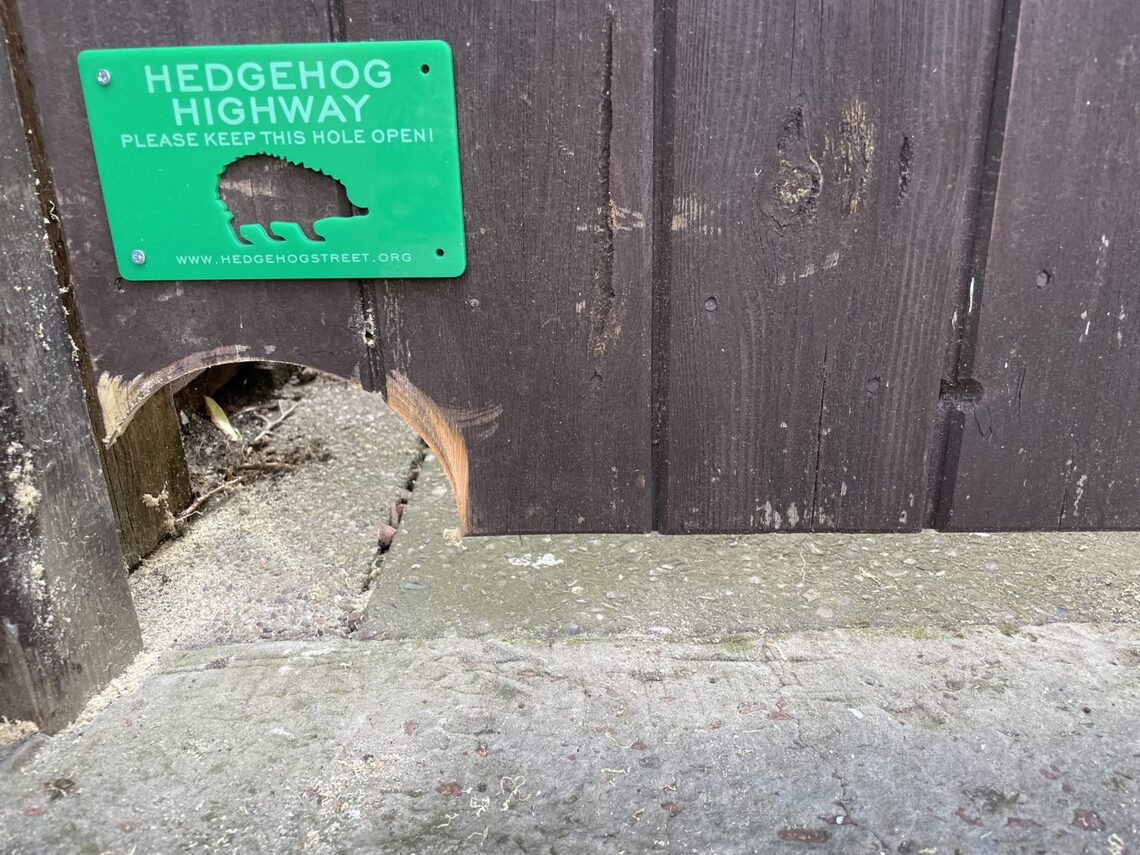
[[[1132,532],[464,538],[429,457],[365,637],[717,638],[1140,620]]]

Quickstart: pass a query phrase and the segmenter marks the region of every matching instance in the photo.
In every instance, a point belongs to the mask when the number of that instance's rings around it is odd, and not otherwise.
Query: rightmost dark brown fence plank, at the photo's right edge
[[[1140,7],[1023,0],[946,526],[1140,526]]]

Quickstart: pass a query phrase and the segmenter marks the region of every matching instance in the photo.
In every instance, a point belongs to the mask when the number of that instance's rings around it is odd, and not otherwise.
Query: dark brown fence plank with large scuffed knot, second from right
[[[921,526],[1000,11],[678,0],[667,530]]]

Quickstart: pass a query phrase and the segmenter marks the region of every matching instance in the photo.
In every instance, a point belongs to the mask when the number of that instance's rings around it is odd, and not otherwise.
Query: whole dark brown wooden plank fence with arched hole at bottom
[[[1140,524],[1134,2],[0,8],[0,347],[54,266],[104,457],[271,359],[384,394],[470,534]],[[80,50],[416,38],[455,55],[465,275],[117,278]]]

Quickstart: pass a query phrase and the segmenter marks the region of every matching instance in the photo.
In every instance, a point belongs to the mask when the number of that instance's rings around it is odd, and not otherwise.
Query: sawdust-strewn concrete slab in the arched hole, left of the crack
[[[364,609],[377,527],[420,439],[349,383],[318,377],[283,393],[298,408],[274,441],[294,467],[213,499],[132,573],[148,652],[347,635]]]

